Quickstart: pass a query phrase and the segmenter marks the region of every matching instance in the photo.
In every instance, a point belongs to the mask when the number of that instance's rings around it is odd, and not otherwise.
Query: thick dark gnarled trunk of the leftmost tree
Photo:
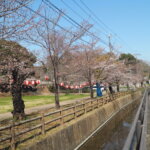
[[[25,117],[25,105],[24,101],[22,100],[22,88],[21,85],[18,85],[17,83],[13,83],[12,89],[12,100],[13,100],[13,118],[16,120],[21,120]]]

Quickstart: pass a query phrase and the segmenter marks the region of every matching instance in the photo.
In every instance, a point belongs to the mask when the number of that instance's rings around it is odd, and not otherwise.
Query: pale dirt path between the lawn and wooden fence
[[[60,102],[60,106],[71,104],[71,103],[78,103],[79,101],[87,100],[87,99],[89,99],[89,97],[85,97],[85,98],[81,98],[81,99],[75,99],[75,100],[63,101],[63,102]],[[42,111],[42,110],[53,108],[54,106],[55,106],[55,104],[53,103],[53,104],[46,104],[46,105],[42,105],[42,106],[31,107],[31,108],[25,109],[25,113],[28,115],[28,114],[31,114],[31,113],[36,113],[36,112],[39,112],[39,111]],[[0,114],[0,121],[3,121],[3,120],[8,119],[8,118],[12,118],[11,112]]]

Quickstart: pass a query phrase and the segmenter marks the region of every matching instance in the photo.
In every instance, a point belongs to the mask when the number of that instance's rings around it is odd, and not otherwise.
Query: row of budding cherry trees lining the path
[[[103,81],[108,85],[115,83],[119,91],[120,84],[143,81],[145,75],[144,70],[139,69],[140,61],[135,59],[132,62],[130,59],[133,58],[126,54],[118,57],[112,50],[106,52],[93,36],[90,36],[91,40],[86,44],[79,42],[92,27],[88,22],[84,21],[80,28],[75,29],[60,27],[62,12],[52,15],[47,6],[41,5],[33,13],[28,7],[29,2],[0,2],[0,76],[11,85],[13,116],[16,119],[25,116],[22,84],[27,77],[34,74],[33,66],[38,59],[52,77],[56,108],[60,107],[60,82],[77,84],[86,81],[89,83],[92,98],[93,82]],[[37,53],[29,52],[14,42],[16,39],[28,42],[32,47],[37,46],[39,55],[35,57]]]

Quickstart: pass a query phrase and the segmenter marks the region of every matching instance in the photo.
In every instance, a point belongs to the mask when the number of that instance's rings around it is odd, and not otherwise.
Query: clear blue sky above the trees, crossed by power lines
[[[83,19],[87,20],[93,25],[90,31],[106,43],[108,36],[111,35],[111,42],[118,51],[134,54],[137,58],[150,62],[149,0],[50,0],[50,2],[78,23]],[[65,20],[61,24],[65,25]],[[100,44],[107,47],[103,43]]]

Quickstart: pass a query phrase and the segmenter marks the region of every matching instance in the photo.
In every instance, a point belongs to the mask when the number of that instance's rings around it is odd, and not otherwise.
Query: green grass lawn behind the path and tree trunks
[[[64,94],[60,95],[60,101],[74,100],[80,99],[84,97],[88,97],[89,94]],[[23,100],[25,102],[26,108],[41,106],[45,104],[54,103],[54,96],[23,96]],[[12,111],[12,100],[11,97],[0,97],[0,113],[10,112]]]

